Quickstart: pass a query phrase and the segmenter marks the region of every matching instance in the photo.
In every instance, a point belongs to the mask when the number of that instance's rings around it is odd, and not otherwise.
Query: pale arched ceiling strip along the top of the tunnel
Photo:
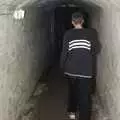
[[[86,2],[89,4],[96,4],[100,7],[114,4],[119,7],[120,0],[0,0],[0,13],[8,13],[16,8],[21,8],[24,6],[36,5],[38,7],[42,5],[55,5],[60,2]]]

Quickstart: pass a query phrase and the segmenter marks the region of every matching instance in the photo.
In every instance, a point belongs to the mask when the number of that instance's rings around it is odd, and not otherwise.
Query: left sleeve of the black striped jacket
[[[62,53],[61,53],[61,58],[60,58],[60,67],[64,68],[64,64],[67,59],[67,54],[68,54],[68,39],[67,39],[67,34],[64,35],[63,39],[63,45],[62,45]]]

